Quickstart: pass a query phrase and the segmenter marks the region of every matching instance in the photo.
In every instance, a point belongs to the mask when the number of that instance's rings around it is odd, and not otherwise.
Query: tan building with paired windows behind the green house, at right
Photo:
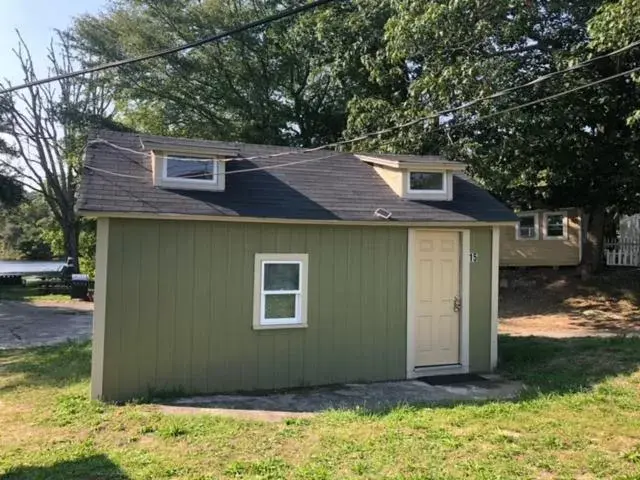
[[[501,267],[562,267],[582,260],[582,221],[576,208],[518,213],[515,227],[503,227]]]

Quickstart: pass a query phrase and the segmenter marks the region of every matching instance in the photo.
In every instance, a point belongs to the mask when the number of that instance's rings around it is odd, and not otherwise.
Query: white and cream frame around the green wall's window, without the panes
[[[265,292],[263,290],[265,265],[270,263],[294,263],[300,265],[299,290],[278,290]],[[306,253],[256,253],[254,265],[254,295],[253,295],[253,329],[266,330],[277,328],[306,328],[307,324],[307,294],[308,294],[308,264],[309,255]],[[265,297],[267,295],[296,295],[296,316],[294,318],[265,318]]]

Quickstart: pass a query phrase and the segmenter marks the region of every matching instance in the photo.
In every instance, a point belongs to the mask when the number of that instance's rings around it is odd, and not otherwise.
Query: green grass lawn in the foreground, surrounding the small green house
[[[0,478],[640,478],[640,339],[501,338],[514,402],[282,423],[87,399],[90,346],[0,353]]]

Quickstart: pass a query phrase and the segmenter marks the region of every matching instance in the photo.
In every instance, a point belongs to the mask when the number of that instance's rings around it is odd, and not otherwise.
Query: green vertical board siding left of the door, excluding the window
[[[110,219],[108,238],[104,399],[405,376],[406,228]],[[308,253],[308,328],[253,330],[256,253]]]

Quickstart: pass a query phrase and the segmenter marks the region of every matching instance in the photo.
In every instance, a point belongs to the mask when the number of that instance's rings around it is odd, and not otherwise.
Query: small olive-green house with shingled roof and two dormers
[[[462,167],[97,133],[92,397],[492,370],[517,218]]]

